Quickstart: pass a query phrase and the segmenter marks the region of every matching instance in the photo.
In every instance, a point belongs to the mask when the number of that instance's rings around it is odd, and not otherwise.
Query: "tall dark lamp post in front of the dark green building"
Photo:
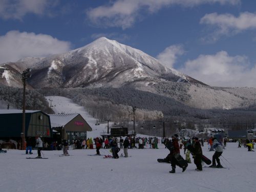
[[[20,136],[22,138],[21,150],[25,150],[25,111],[26,111],[26,80],[31,77],[31,69],[28,68],[22,73],[22,82],[23,82],[23,113],[22,113],[22,133]]]

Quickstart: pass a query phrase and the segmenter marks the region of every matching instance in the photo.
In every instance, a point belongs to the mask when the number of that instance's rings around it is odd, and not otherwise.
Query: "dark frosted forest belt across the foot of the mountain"
[[[228,130],[247,130],[255,127],[255,108],[241,110],[202,110],[191,108],[172,98],[132,88],[66,88],[26,91],[26,109],[52,114],[44,96],[63,96],[83,106],[90,115],[105,122],[111,119],[120,126],[133,126],[133,107],[136,106],[136,127],[162,127],[169,130],[220,127]],[[1,109],[22,109],[23,89],[0,86]],[[53,103],[54,104],[54,103]],[[145,129],[146,130],[146,129]],[[145,132],[145,130],[143,130]]]

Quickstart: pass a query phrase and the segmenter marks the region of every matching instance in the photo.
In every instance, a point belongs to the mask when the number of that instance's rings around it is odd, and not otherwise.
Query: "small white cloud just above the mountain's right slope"
[[[159,55],[157,55],[157,59],[169,68],[173,68],[174,63],[177,59],[177,56],[183,55],[184,49],[182,45],[172,45],[167,48]]]

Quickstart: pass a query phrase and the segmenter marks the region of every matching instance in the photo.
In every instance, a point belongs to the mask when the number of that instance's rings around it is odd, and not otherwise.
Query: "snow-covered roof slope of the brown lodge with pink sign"
[[[50,114],[52,127],[63,127],[74,119],[79,113]]]

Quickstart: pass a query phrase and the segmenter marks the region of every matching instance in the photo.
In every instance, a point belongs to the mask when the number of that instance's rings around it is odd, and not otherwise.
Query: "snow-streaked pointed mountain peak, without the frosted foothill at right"
[[[32,77],[28,82],[34,88],[121,87],[138,81],[143,81],[143,84],[158,81],[200,83],[175,69],[164,67],[157,59],[140,50],[105,37],[68,53],[26,58],[5,66],[19,71],[32,68]]]

